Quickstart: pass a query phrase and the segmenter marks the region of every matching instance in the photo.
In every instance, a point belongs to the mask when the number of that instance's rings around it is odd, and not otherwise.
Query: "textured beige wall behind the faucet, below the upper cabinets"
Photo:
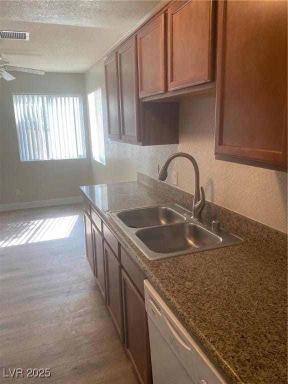
[[[134,180],[137,170],[156,177],[157,163],[175,151],[187,152],[199,164],[207,200],[287,232],[287,174],[214,159],[214,96],[180,102],[178,145],[140,147],[107,138],[103,62],[88,70],[85,79],[86,90],[101,86],[103,97],[106,166],[92,160],[94,183]],[[178,172],[178,187],[192,192],[194,175],[188,160],[177,159],[171,165]]]

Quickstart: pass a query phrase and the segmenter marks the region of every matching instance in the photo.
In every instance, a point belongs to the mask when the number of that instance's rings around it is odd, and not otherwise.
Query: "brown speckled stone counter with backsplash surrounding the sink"
[[[191,209],[193,196],[143,174],[81,190],[228,382],[287,383],[284,233],[207,202],[204,216],[245,243],[148,260],[109,212],[170,202]]]

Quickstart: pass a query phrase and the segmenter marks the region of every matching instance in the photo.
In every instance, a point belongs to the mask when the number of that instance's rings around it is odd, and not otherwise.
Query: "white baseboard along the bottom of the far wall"
[[[76,202],[82,202],[82,196],[53,198],[51,200],[15,202],[14,204],[2,204],[0,205],[0,211],[39,208],[44,206],[54,206],[54,205],[63,205],[63,204],[73,204]]]

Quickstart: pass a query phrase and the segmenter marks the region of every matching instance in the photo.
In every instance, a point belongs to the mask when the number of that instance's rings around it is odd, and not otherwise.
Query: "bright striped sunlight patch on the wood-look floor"
[[[53,217],[8,224],[1,233],[0,247],[68,237],[79,217]]]

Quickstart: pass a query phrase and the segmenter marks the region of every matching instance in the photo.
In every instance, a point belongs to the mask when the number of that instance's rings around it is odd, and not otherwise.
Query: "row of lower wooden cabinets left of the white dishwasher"
[[[85,206],[85,197],[83,202]],[[96,215],[94,218],[84,209],[88,263],[138,381],[141,384],[152,384],[148,323],[143,297],[145,275],[92,207],[91,211]],[[103,234],[99,228],[103,228]]]

